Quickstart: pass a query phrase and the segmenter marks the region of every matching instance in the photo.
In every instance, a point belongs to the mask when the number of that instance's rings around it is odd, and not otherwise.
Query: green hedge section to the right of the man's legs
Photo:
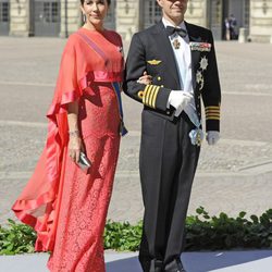
[[[242,211],[237,218],[221,212],[210,217],[202,207],[197,215],[186,221],[186,250],[219,250],[233,248],[272,248],[272,209],[260,218],[246,219]]]

